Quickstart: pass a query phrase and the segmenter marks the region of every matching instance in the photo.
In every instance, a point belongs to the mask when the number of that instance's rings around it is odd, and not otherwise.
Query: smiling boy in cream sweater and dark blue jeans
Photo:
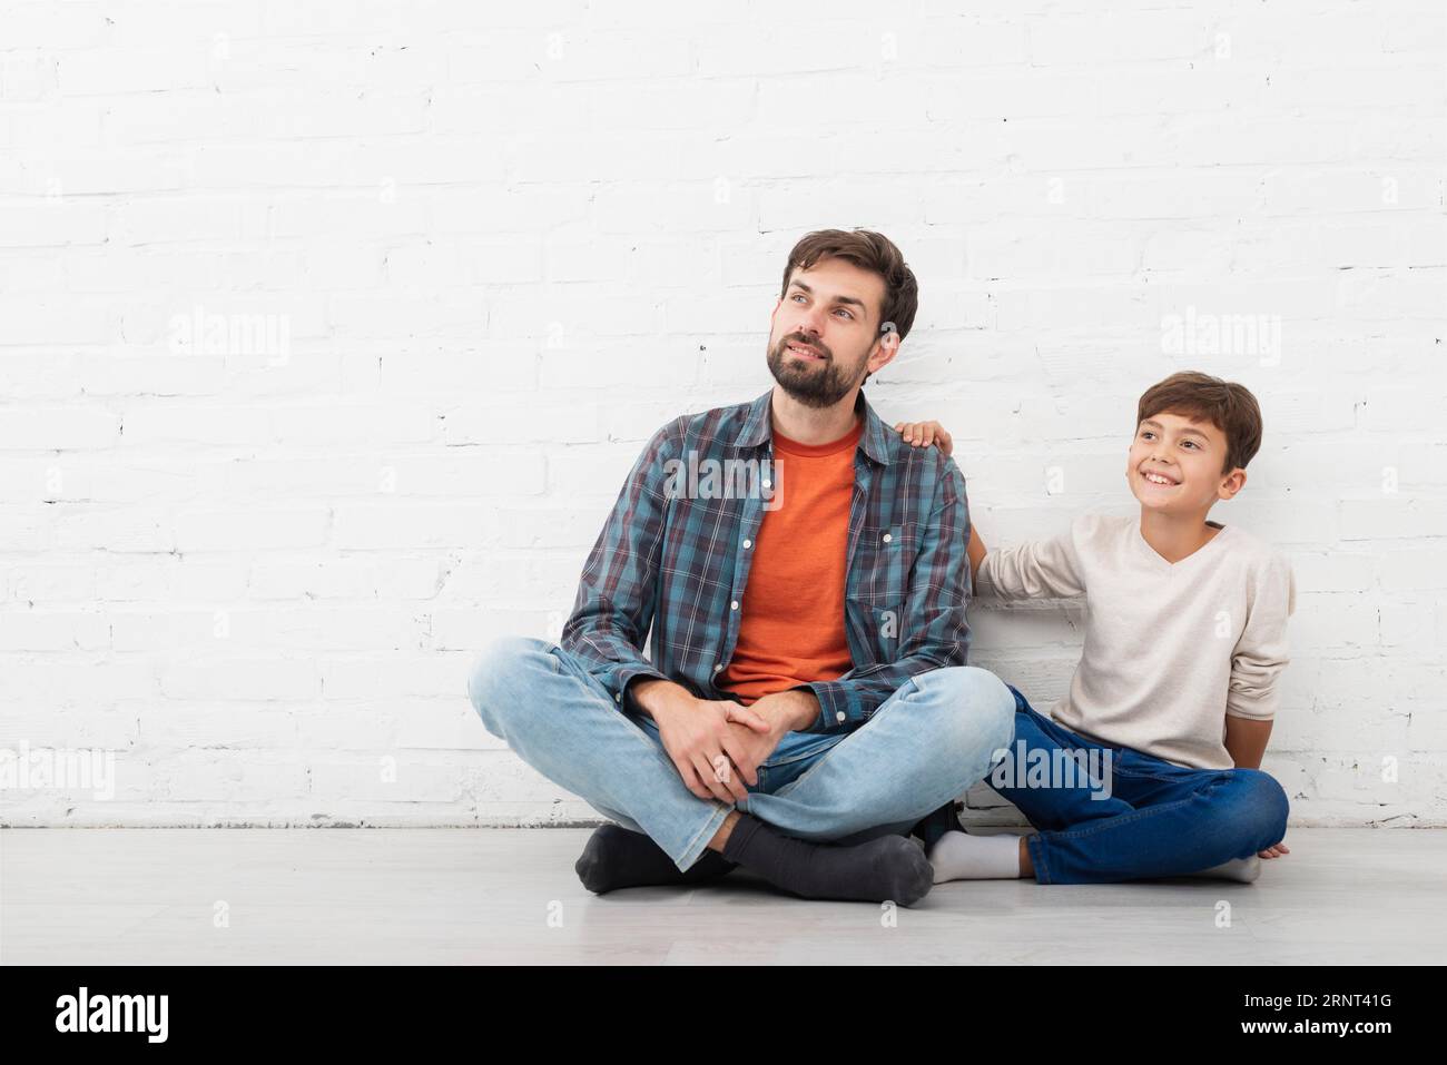
[[[896,428],[949,451],[936,423]],[[1252,881],[1259,858],[1289,852],[1286,794],[1259,765],[1292,573],[1263,541],[1207,518],[1242,491],[1260,438],[1246,388],[1175,373],[1137,405],[1126,479],[1139,518],[1082,515],[1064,535],[988,553],[971,534],[978,595],[1084,596],[1085,640],[1049,718],[1014,692],[1016,741],[985,777],[1037,833],[967,835],[955,822],[929,849],[935,883]]]

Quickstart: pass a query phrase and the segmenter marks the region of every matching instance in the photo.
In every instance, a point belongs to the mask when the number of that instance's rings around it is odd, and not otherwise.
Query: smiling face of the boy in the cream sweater
[[[1136,427],[1126,479],[1143,508],[1204,515],[1217,499],[1230,499],[1246,483],[1246,470],[1223,469],[1226,450],[1220,427],[1162,411]]]

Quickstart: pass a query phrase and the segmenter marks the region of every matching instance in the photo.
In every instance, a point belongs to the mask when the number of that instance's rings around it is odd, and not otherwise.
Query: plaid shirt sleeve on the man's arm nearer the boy
[[[945,460],[920,548],[910,572],[900,624],[899,657],[852,669],[836,680],[807,687],[819,699],[819,716],[807,732],[851,732],[917,673],[964,666],[969,650],[969,506],[965,479],[952,459]]]

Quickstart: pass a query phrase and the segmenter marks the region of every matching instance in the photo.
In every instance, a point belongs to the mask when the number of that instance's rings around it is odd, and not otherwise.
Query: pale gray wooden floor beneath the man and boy
[[[0,964],[1447,959],[1447,831],[1294,829],[1255,884],[938,884],[896,920],[738,871],[593,896],[587,835],[6,829]]]

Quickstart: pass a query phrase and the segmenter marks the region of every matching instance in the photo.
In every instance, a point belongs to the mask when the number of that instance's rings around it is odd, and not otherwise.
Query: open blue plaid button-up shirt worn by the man
[[[673,680],[699,699],[737,699],[713,677],[738,640],[750,548],[770,506],[771,396],[684,415],[654,433],[593,544],[561,645],[621,706],[632,706],[624,700],[641,677]],[[809,732],[857,729],[916,673],[965,664],[969,647],[964,478],[938,447],[906,444],[862,391],[861,410],[844,612],[854,667],[799,686],[819,699]],[[708,460],[731,476],[752,460],[761,491],[719,492],[718,479],[715,491],[702,491]],[[696,488],[680,492],[690,469]],[[640,650],[650,627],[651,661]]]

